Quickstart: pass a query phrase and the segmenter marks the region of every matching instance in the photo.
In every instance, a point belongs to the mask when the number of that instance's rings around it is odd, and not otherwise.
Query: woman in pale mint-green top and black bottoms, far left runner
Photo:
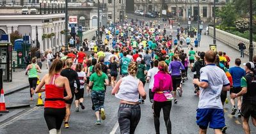
[[[26,68],[26,72],[28,72],[28,82],[30,87],[30,100],[33,100],[32,92],[36,89],[36,82],[38,78],[38,73],[41,73],[40,67],[36,64],[36,57],[33,57],[31,60],[31,64]]]

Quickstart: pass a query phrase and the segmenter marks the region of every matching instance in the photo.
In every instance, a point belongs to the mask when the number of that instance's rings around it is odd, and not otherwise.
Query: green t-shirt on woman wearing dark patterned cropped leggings
[[[105,80],[108,79],[106,73],[102,72],[102,75],[98,76],[97,73],[93,73],[90,77],[90,81],[93,82],[92,90],[93,91],[104,91]]]

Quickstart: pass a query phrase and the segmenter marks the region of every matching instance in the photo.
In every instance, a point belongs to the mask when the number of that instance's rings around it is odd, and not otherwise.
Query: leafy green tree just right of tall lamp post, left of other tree
[[[237,19],[236,10],[231,3],[226,4],[221,8],[221,10],[217,11],[217,17],[220,17],[222,22],[222,26],[232,27],[235,26],[235,21]]]

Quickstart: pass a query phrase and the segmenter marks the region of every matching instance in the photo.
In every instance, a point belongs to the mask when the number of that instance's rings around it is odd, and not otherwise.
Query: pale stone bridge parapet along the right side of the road
[[[209,35],[213,36],[213,27],[209,27]],[[246,38],[242,38],[240,36],[236,36],[234,34],[227,33],[220,29],[216,29],[216,39],[229,45],[230,47],[237,49],[237,50],[239,50],[238,43],[243,42],[244,45],[246,45],[246,50],[244,50],[244,54],[249,55],[250,40],[247,40]],[[254,54],[256,54],[256,42],[253,41],[253,55]]]

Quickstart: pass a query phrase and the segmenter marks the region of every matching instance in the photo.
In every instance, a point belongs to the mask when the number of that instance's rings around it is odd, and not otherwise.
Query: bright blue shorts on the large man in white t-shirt
[[[196,110],[196,124],[200,128],[222,129],[225,125],[223,109],[216,108],[198,108]]]

